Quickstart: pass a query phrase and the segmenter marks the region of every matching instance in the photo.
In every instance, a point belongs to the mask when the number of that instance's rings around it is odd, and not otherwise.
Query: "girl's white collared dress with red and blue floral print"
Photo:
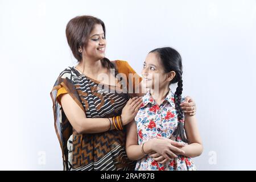
[[[185,98],[181,98],[184,102]],[[178,119],[175,109],[174,93],[169,90],[163,103],[158,106],[148,91],[142,98],[142,105],[135,117],[138,133],[138,144],[147,142],[152,138],[159,137],[170,138],[177,142],[184,143],[173,134],[177,129]],[[185,143],[187,144],[187,143]],[[146,155],[137,161],[136,171],[176,171],[176,170],[196,170],[195,164],[191,158],[183,155],[177,155],[165,164],[160,164]]]

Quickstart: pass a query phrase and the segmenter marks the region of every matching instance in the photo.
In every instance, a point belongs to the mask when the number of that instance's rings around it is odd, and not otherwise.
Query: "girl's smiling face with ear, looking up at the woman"
[[[169,86],[174,76],[175,72],[164,72],[164,67],[157,53],[148,53],[142,69],[142,85],[144,88],[162,89],[164,86]]]

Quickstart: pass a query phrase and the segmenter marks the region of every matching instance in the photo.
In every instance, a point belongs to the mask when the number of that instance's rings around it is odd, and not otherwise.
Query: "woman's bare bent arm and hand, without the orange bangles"
[[[140,100],[141,98],[131,98],[125,107],[123,107],[121,115],[123,125],[127,125],[127,123],[133,121],[138,112],[138,106],[141,104]],[[77,133],[101,133],[109,130],[112,118],[109,118],[110,122],[108,118],[86,118],[84,111],[68,93],[61,96],[60,102],[68,121]],[[115,129],[115,127],[112,123],[110,130],[113,129]]]

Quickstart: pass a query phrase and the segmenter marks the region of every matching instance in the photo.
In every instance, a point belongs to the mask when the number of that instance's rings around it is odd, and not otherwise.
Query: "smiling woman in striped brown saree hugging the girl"
[[[126,61],[105,57],[102,20],[77,16],[68,22],[66,35],[78,64],[60,73],[51,92],[64,169],[133,170],[135,163],[125,152],[125,126],[142,103],[133,97],[138,75]],[[129,73],[135,75],[133,84],[128,82]],[[99,80],[99,75],[109,79]],[[123,92],[130,85],[133,93]],[[191,114],[193,108],[193,102],[187,103]]]

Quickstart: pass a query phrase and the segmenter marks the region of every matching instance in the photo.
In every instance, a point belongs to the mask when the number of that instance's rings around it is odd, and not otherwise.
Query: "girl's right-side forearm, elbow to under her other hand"
[[[189,158],[195,158],[202,154],[203,145],[200,143],[191,143],[185,145],[184,147],[181,147],[180,149],[185,152],[185,154],[182,155],[187,156]]]

